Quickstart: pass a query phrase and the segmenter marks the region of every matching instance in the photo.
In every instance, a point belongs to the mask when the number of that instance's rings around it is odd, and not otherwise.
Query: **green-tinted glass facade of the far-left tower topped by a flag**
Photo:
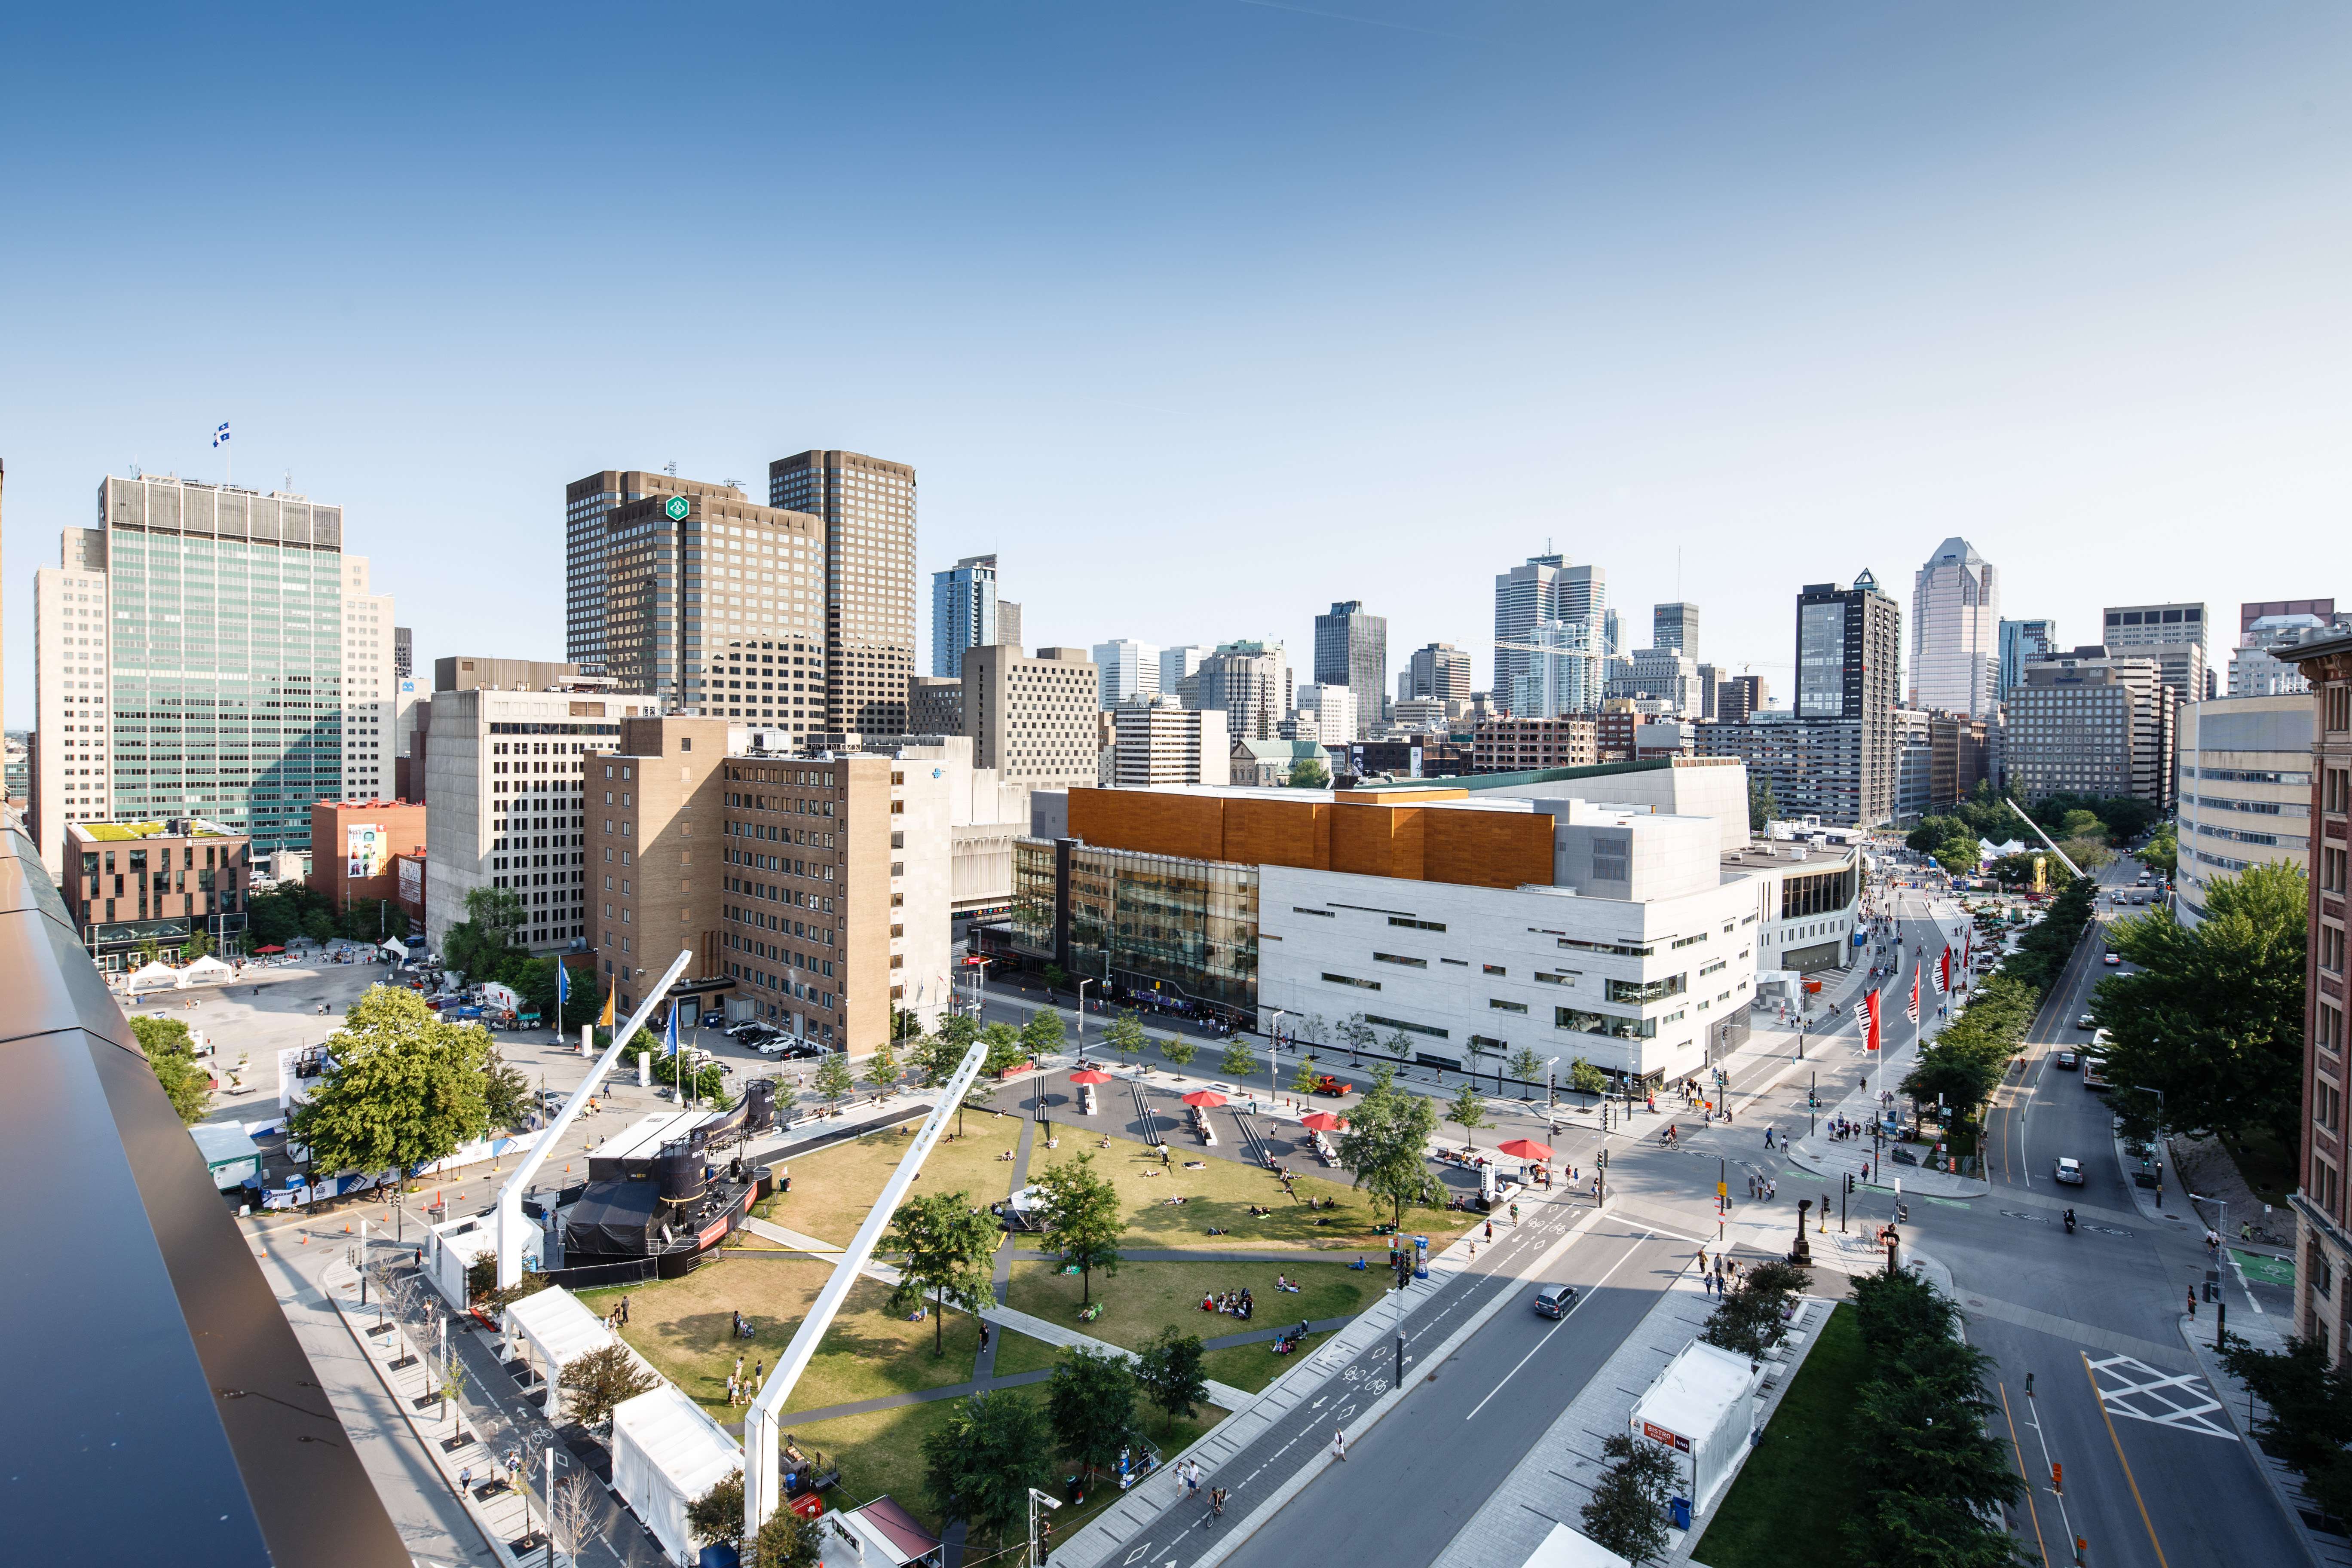
[[[343,792],[343,510],[106,480],[115,813],[310,849]]]

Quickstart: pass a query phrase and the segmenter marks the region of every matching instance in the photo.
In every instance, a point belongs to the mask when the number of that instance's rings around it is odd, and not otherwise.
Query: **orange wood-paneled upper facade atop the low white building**
[[[1070,835],[1103,849],[1296,865],[1301,870],[1458,882],[1512,889],[1550,884],[1552,818],[1519,811],[1432,811],[1416,797],[1461,799],[1463,790],[1404,797],[1284,799],[1164,795],[1157,790],[1070,790]],[[1390,804],[1395,802],[1395,804]]]

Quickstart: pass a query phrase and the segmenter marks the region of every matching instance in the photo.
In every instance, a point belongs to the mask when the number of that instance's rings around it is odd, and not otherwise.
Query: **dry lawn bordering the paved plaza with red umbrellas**
[[[1183,1147],[1188,1140],[1181,1135],[1169,1145],[1174,1159],[1162,1171],[1157,1150],[1145,1150],[1138,1143],[1115,1138],[1103,1150],[1091,1138],[1063,1138],[1058,1150],[1035,1147],[1030,1152],[1030,1180],[1049,1164],[1094,1154],[1094,1168],[1117,1185],[1120,1201],[1127,1208],[1127,1234],[1120,1246],[1350,1248],[1369,1253],[1374,1267],[1385,1258],[1388,1239],[1371,1234],[1371,1227],[1388,1220],[1388,1204],[1376,1204],[1348,1187],[1345,1180],[1329,1180],[1324,1175],[1298,1175],[1294,1180],[1298,1197],[1291,1199],[1284,1197],[1272,1173],[1230,1159],[1207,1159],[1197,1150],[1188,1152]],[[1185,1171],[1188,1159],[1202,1161],[1202,1168]],[[1174,1197],[1185,1201],[1171,1204],[1169,1199]],[[1308,1199],[1329,1199],[1331,1206],[1308,1208]],[[1270,1213],[1254,1215],[1249,1213],[1254,1206]],[[1425,1234],[1432,1246],[1444,1246],[1470,1229],[1477,1218],[1446,1208],[1406,1208],[1404,1232]],[[1329,1225],[1317,1225],[1315,1220],[1329,1220]],[[1225,1234],[1211,1237],[1211,1227]],[[1270,1279],[1272,1274],[1268,1274]],[[1256,1286],[1251,1284],[1251,1288]]]

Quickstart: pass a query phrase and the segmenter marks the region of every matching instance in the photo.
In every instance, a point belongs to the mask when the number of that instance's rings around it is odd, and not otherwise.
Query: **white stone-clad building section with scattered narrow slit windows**
[[[1508,806],[1482,792],[1432,809]],[[1555,818],[1552,886],[1258,867],[1261,1020],[1362,1013],[1449,1070],[1526,1048],[1562,1074],[1581,1056],[1651,1084],[1708,1067],[1712,1025],[1745,1039],[1759,912],[1722,865],[1724,827],[1576,799],[1526,809]]]

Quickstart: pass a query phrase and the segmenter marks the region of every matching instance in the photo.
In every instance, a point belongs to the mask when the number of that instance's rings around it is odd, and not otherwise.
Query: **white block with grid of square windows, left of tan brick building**
[[[426,731],[426,943],[440,950],[466,919],[466,893],[496,886],[506,860],[529,856],[572,872],[572,898],[548,905],[536,952],[586,950],[586,818],[581,757],[609,752],[621,719],[661,717],[661,701],[616,691],[433,693]],[[536,875],[536,872],[534,872]],[[560,936],[557,936],[560,931]]]

